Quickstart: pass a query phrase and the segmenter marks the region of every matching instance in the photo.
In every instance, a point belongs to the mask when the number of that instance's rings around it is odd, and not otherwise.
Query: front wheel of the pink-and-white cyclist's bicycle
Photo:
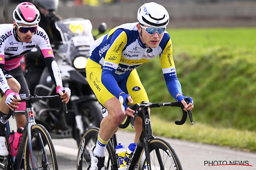
[[[35,124],[31,127],[31,138],[35,140],[35,137],[39,139],[39,134],[42,138],[41,145],[36,146],[36,148],[32,148],[32,159],[34,161],[35,169],[47,169],[47,170],[58,170],[58,162],[57,156],[55,153],[55,149],[53,146],[52,138],[41,124]],[[39,148],[38,148],[39,147]],[[45,156],[46,155],[46,156]],[[28,146],[28,136],[26,139],[26,147],[25,147],[25,170],[31,170],[31,155]]]

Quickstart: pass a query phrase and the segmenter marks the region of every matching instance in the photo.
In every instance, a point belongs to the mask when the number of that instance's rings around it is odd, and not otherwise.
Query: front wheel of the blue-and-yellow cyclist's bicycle
[[[150,161],[152,169],[182,170],[182,166],[177,154],[167,141],[155,138],[148,142],[148,146],[150,151]],[[142,150],[139,159],[138,170],[144,170],[144,166],[146,163],[144,151],[145,149]],[[159,154],[161,159],[159,159],[159,156],[157,156]],[[162,165],[163,168],[160,168],[160,165]]]

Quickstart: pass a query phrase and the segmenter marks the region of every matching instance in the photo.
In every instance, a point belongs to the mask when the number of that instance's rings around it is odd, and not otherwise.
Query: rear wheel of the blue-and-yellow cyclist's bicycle
[[[90,168],[90,149],[96,145],[99,134],[99,128],[90,128],[80,142],[77,159],[76,159],[76,169],[77,170],[87,170]],[[111,169],[111,165],[114,164],[115,154],[113,147],[110,142],[108,142],[105,150],[105,169]]]

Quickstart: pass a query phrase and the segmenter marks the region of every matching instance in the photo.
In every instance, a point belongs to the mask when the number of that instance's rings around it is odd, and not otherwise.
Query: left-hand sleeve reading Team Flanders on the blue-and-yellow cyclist
[[[123,48],[127,43],[127,35],[125,31],[118,29],[111,35],[110,48],[105,55],[102,67],[101,81],[106,89],[116,98],[119,98],[122,90],[114,79],[114,73],[120,62]]]

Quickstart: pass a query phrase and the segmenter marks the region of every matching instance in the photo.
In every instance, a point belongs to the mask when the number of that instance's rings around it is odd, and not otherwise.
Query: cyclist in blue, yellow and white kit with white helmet
[[[104,163],[105,147],[111,136],[118,130],[126,116],[134,117],[134,111],[125,104],[148,101],[136,68],[160,56],[160,63],[167,88],[171,96],[193,109],[193,99],[185,97],[176,76],[172,56],[172,43],[166,31],[169,14],[154,2],[143,4],[137,14],[139,22],[126,23],[112,29],[91,43],[86,74],[90,87],[99,102],[107,109],[108,115],[100,124],[96,146],[91,148],[91,170],[101,169]],[[186,104],[185,98],[189,98]],[[118,104],[119,103],[119,104]],[[137,143],[142,132],[142,119],[134,123]]]

